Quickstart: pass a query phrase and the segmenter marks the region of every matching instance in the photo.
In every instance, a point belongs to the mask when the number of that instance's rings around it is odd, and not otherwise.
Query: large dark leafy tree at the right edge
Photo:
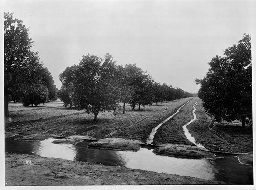
[[[251,37],[244,35],[238,45],[228,47],[224,57],[216,56],[209,63],[198,96],[207,112],[216,120],[240,120],[245,127],[246,118],[252,119]]]

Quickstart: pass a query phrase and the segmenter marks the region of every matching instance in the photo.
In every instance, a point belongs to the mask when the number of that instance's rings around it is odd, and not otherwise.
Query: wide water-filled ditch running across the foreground
[[[253,166],[239,164],[238,159],[234,156],[224,156],[214,161],[185,159],[155,155],[152,149],[147,148],[141,148],[138,152],[117,151],[88,148],[89,142],[81,142],[77,145],[59,145],[52,143],[54,140],[50,138],[43,141],[18,141],[6,138],[5,152],[119,165],[235,184],[253,184]]]

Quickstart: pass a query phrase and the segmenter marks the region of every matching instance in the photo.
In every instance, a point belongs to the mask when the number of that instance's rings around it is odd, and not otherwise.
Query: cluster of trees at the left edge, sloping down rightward
[[[51,73],[33,52],[33,41],[23,21],[4,13],[4,101],[19,101],[24,106],[57,100],[57,88]]]

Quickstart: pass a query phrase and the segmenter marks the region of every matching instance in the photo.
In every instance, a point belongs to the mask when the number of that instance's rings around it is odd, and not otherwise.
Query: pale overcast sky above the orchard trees
[[[52,73],[79,64],[83,55],[119,65],[134,64],[156,82],[197,92],[208,63],[243,38],[252,35],[256,1],[87,1],[8,0],[30,29],[33,50]]]

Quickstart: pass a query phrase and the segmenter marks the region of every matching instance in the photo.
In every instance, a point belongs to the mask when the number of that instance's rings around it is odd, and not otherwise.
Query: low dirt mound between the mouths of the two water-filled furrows
[[[165,156],[189,157],[195,159],[216,158],[216,155],[200,147],[189,145],[163,144],[153,150],[155,154]]]

